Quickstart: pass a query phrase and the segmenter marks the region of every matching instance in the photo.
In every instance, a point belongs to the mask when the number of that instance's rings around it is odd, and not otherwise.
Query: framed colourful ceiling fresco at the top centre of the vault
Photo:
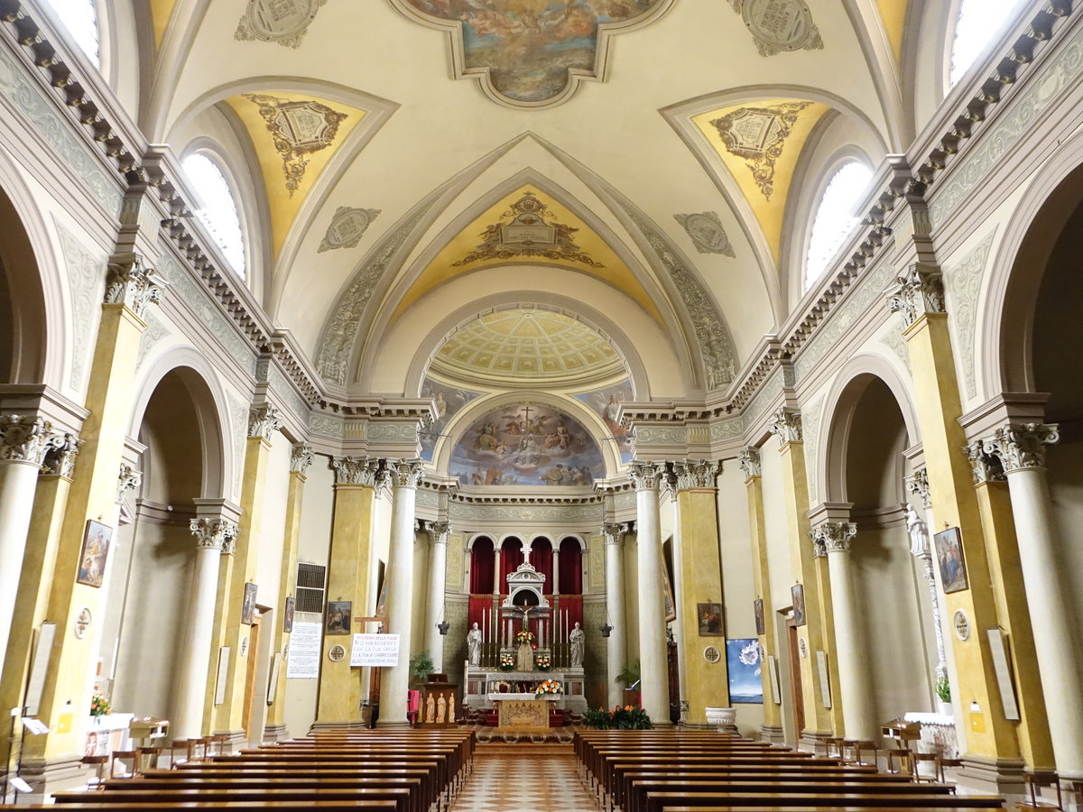
[[[456,78],[493,101],[549,107],[583,79],[604,81],[608,38],[653,22],[673,0],[393,0],[452,37]]]

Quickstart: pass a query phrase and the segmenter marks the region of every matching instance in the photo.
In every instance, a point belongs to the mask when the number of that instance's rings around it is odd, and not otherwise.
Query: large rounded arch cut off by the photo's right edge
[[[1034,391],[1033,319],[1049,257],[1083,202],[1083,133],[1066,141],[1019,198],[986,285],[976,345],[986,397]]]

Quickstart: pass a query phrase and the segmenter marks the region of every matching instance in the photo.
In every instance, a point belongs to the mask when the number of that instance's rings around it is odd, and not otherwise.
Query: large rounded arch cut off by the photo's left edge
[[[64,380],[69,339],[69,307],[58,252],[32,194],[0,152],[0,271],[6,284],[10,317],[11,383],[48,383],[68,389]],[[104,269],[103,269],[104,273]]]

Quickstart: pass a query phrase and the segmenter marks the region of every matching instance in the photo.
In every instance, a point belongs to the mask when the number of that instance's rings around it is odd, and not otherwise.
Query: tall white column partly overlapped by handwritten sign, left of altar
[[[414,506],[420,460],[388,462],[391,476],[391,546],[388,551],[388,631],[399,636],[399,664],[380,678],[378,728],[405,728],[409,691],[410,629],[414,614]]]

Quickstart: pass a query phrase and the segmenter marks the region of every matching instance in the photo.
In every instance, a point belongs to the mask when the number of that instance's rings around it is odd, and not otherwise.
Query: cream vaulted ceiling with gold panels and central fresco
[[[831,161],[909,144],[939,4],[139,5],[144,129],[229,163],[253,290],[329,384],[417,394],[419,356],[481,375],[572,346],[467,352],[526,304],[593,326],[561,375],[619,353],[676,397],[725,388],[799,299]]]

